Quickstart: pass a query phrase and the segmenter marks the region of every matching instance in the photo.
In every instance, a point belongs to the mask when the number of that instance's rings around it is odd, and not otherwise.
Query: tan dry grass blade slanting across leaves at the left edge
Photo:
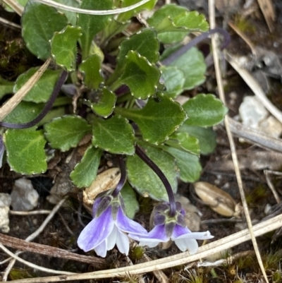
[[[13,97],[6,102],[0,108],[0,121],[2,121],[16,106],[23,100],[25,95],[31,90],[33,85],[37,83],[39,78],[43,75],[44,71],[48,68],[49,64],[51,63],[51,58],[47,59],[47,61],[36,71],[36,73],[23,85],[18,92],[16,92]]]

